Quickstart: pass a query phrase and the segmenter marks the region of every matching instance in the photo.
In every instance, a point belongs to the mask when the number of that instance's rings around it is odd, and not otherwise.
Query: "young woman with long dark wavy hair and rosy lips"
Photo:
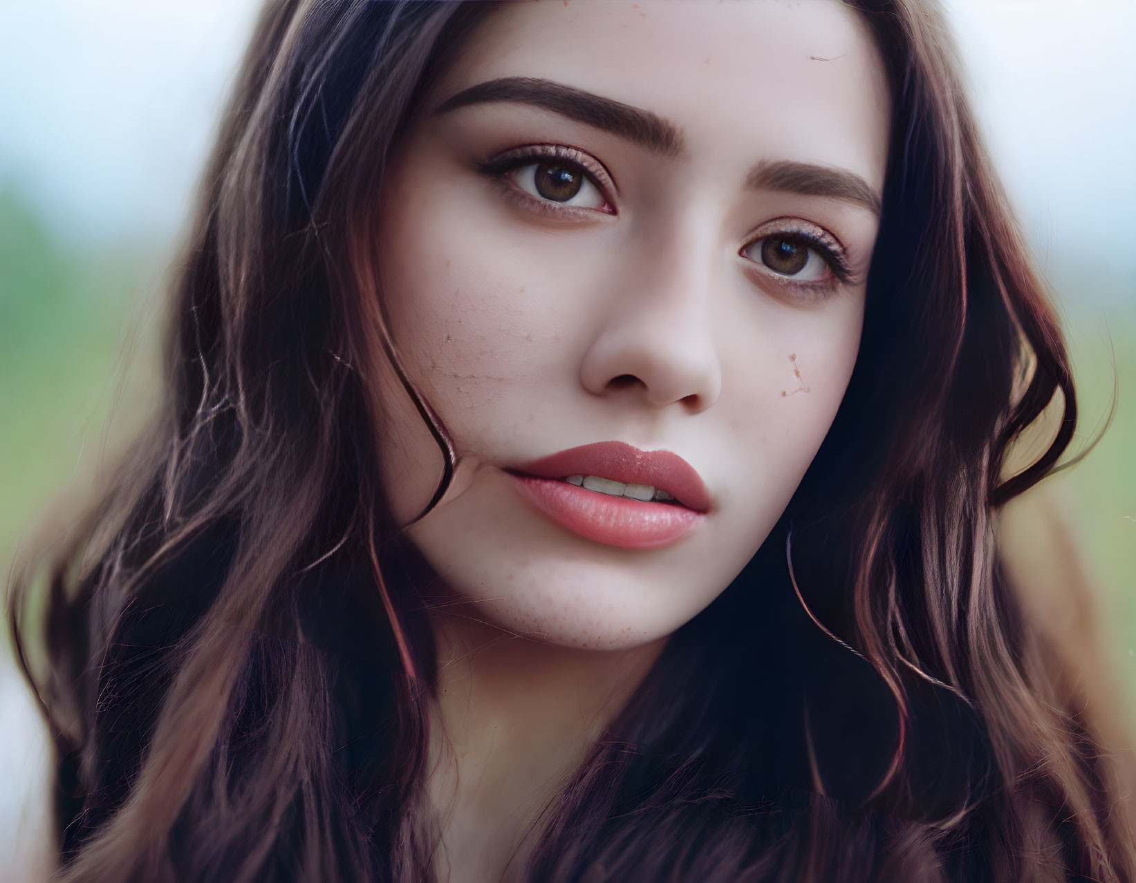
[[[1075,397],[928,0],[273,0],[166,384],[14,616],[60,880],[1136,873],[1000,561]]]

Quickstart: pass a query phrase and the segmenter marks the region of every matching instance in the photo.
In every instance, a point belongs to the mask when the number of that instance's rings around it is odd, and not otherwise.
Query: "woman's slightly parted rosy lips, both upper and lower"
[[[542,514],[605,546],[669,546],[710,510],[705,483],[678,454],[623,442],[569,448],[506,472]]]

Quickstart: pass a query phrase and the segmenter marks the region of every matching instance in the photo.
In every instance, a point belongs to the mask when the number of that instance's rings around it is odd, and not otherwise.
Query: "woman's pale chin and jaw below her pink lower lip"
[[[774,520],[711,519],[667,548],[617,548],[566,531],[519,503],[509,481],[485,476],[407,538],[437,578],[427,604],[533,640],[607,650],[657,641],[696,616]]]

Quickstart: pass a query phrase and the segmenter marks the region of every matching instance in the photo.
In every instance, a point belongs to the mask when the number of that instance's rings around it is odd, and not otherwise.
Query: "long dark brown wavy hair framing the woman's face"
[[[753,561],[535,822],[519,878],[1136,878],[1116,763],[996,545],[999,508],[1072,437],[1061,331],[939,11],[846,2],[894,108],[850,387]],[[11,583],[61,881],[434,878],[434,649],[378,478],[374,385],[398,354],[374,207],[494,6],[265,7],[174,286],[164,404]],[[454,445],[400,377],[443,454],[436,503]],[[1054,398],[1052,444],[1005,474]]]

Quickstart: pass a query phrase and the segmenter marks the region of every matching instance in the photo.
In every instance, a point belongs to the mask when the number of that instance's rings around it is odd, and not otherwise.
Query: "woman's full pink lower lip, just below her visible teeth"
[[[704,518],[685,506],[613,497],[556,479],[508,474],[560,527],[604,546],[662,548],[685,537]]]

